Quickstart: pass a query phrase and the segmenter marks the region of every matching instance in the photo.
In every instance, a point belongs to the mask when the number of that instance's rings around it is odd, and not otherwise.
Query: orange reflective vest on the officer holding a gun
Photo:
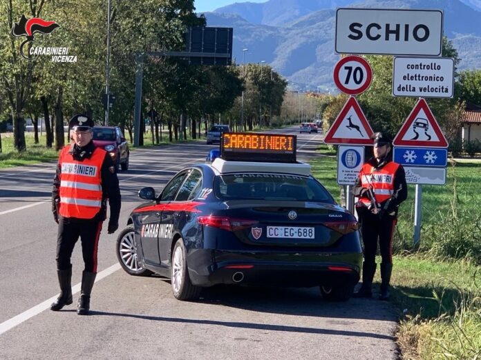
[[[382,203],[393,196],[394,176],[398,168],[399,163],[395,163],[394,161],[388,162],[379,169],[370,163],[365,163],[361,168],[359,176],[361,177],[362,187],[369,188],[369,186],[372,186],[377,203]],[[359,201],[366,206],[370,205],[370,201],[366,197],[361,197]]]

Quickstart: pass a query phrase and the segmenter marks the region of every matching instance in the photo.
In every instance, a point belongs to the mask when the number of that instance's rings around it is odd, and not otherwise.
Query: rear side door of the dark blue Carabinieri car
[[[191,221],[192,193],[200,191],[202,174],[200,170],[192,168],[187,172],[182,186],[178,190],[176,197],[165,206],[162,211],[162,224],[159,230],[159,254],[162,266],[170,266],[170,252],[172,234],[174,231],[182,230]]]

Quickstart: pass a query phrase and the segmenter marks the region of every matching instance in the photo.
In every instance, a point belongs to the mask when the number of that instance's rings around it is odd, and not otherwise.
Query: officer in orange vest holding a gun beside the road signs
[[[354,297],[372,297],[372,279],[376,272],[375,259],[379,241],[379,299],[387,300],[393,270],[393,234],[397,223],[397,210],[399,204],[406,200],[408,188],[404,168],[393,161],[390,137],[382,132],[375,132],[371,139],[374,157],[361,168],[352,188],[352,194],[359,197],[356,210],[364,245],[362,286],[359,292],[355,292]]]

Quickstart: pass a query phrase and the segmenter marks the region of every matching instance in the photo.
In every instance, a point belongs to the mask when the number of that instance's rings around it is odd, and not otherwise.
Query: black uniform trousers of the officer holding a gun
[[[376,261],[377,242],[383,263],[393,263],[393,234],[397,217],[386,214],[379,219],[365,208],[359,214],[361,221],[361,234],[364,244],[364,261],[374,264]]]

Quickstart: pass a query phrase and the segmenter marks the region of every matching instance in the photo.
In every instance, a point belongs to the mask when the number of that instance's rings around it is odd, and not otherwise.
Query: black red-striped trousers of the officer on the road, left
[[[80,238],[85,271],[97,272],[97,248],[102,230],[99,219],[69,219],[59,217],[59,232],[57,235],[57,269],[67,270],[72,267],[72,257],[75,243]]]

